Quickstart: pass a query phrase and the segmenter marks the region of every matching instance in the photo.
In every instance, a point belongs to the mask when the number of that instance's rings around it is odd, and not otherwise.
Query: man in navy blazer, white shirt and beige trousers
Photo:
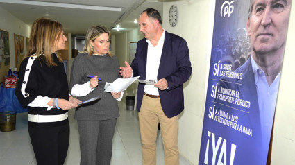
[[[160,13],[148,8],[139,18],[144,39],[137,43],[131,66],[125,62],[121,75],[140,76],[155,80],[154,85],[140,83],[137,91],[137,110],[142,138],[142,163],[155,164],[155,141],[158,123],[161,125],[165,164],[179,164],[178,114],[184,109],[183,83],[191,73],[187,42],[162,28]]]

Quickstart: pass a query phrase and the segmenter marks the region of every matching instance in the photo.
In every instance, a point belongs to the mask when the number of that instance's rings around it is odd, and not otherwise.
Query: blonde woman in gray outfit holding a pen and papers
[[[109,165],[112,157],[112,137],[119,117],[117,100],[121,100],[122,94],[103,92],[106,82],[112,83],[121,77],[119,62],[110,55],[109,46],[110,31],[104,26],[91,26],[85,36],[83,52],[78,54],[71,68],[69,88],[73,96],[82,101],[101,96],[99,101],[76,109],[81,164]]]

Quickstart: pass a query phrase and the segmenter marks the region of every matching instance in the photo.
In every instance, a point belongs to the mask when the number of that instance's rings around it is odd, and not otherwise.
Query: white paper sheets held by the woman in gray
[[[108,83],[106,82],[106,86],[104,87],[105,92],[124,92],[129,85],[131,85],[137,78],[117,78],[114,82]]]

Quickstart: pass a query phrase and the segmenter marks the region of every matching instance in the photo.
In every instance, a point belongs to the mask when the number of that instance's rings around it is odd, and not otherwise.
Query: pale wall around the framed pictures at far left
[[[9,32],[9,49],[10,49],[10,67],[12,71],[15,68],[15,42],[14,42],[14,33],[17,35],[24,36],[24,52],[26,53],[26,37],[30,35],[30,26],[24,24],[23,21],[19,20],[14,15],[11,15],[10,12],[7,12],[5,9],[0,7],[0,29]],[[4,63],[1,63],[1,69],[6,69]],[[8,71],[8,69],[7,69]],[[7,74],[7,71],[4,71]],[[3,71],[1,71],[2,73]],[[0,73],[0,77],[3,75]]]

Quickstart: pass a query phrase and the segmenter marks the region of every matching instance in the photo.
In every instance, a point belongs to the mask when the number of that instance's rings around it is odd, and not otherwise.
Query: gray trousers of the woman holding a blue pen
[[[112,137],[116,119],[104,121],[78,120],[81,165],[110,165]]]

